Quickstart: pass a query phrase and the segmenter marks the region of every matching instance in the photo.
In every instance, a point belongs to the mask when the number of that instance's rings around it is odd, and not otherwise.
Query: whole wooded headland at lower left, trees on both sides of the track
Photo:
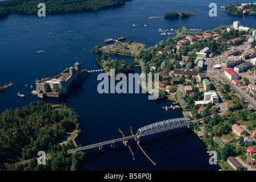
[[[76,157],[73,154],[67,154],[67,150],[75,148],[71,140],[62,146],[55,144],[72,130],[81,131],[79,115],[66,104],[52,105],[38,100],[37,104],[31,102],[30,105],[22,108],[6,109],[0,115],[0,169],[35,170],[37,167],[35,160],[31,161],[32,166],[27,166],[27,164],[14,166],[10,163],[18,162],[17,158],[35,158],[38,151],[51,154],[50,162],[57,160],[53,163],[61,163],[61,158],[67,161],[62,165],[48,164],[43,168],[39,165],[38,169],[70,170],[73,163],[75,165],[73,169],[77,169],[78,159],[83,159],[85,154],[79,152],[75,154],[79,155]]]

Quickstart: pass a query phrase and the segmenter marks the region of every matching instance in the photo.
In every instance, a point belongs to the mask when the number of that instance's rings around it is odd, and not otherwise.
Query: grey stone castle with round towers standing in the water
[[[87,78],[88,75],[87,71],[82,71],[81,63],[77,62],[74,67],[65,69],[61,75],[39,80],[36,84],[36,89],[31,93],[36,94],[40,98],[59,97],[67,93],[74,85]]]

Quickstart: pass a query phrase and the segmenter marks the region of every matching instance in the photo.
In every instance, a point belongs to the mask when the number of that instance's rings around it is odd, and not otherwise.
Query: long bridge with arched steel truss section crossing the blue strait
[[[140,129],[138,129],[137,134],[135,135],[130,135],[128,137],[122,137],[118,139],[112,139],[106,142],[90,144],[89,146],[78,147],[72,150],[68,150],[67,152],[72,153],[76,151],[87,150],[90,148],[102,147],[103,145],[106,145],[106,144],[113,144],[115,142],[122,142],[122,141],[126,141],[128,139],[133,139],[133,138],[139,139],[140,137],[145,137],[147,135],[153,135],[153,134],[161,133],[163,131],[169,131],[173,129],[178,129],[179,127],[189,126],[195,122],[197,121],[192,122],[189,118],[167,119],[165,121],[160,121],[160,122],[153,123],[151,125],[141,127]]]

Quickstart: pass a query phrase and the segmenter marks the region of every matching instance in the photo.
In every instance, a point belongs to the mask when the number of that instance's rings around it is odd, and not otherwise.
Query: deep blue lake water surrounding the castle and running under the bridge
[[[241,3],[243,1],[236,1]],[[37,101],[30,92],[35,88],[35,80],[55,76],[75,62],[82,63],[87,70],[98,69],[96,55],[92,49],[98,44],[105,45],[104,39],[126,36],[127,41],[143,43],[146,48],[169,36],[161,36],[158,28],[178,29],[202,28],[202,31],[241,21],[244,26],[256,27],[253,16],[228,15],[220,6],[232,1],[215,1],[218,16],[209,16],[209,2],[133,0],[125,6],[88,13],[46,15],[11,14],[0,19],[0,85],[13,82],[14,85],[0,93],[0,111],[7,107],[22,107]],[[46,7],[47,8],[47,7]],[[188,11],[195,16],[184,19],[166,20],[163,15],[171,11]],[[149,16],[159,18],[149,19]],[[136,24],[137,26],[133,26]],[[144,26],[147,24],[147,26]],[[49,33],[52,33],[49,35]],[[46,52],[37,54],[39,50]],[[125,57],[114,56],[118,60]],[[131,58],[128,58],[132,61]],[[140,72],[135,69],[135,72]],[[73,107],[81,116],[82,135],[77,144],[103,142],[122,137],[120,128],[130,135],[130,127],[136,133],[140,127],[165,119],[183,117],[179,110],[165,111],[162,106],[171,101],[148,100],[147,94],[99,94],[97,80],[99,73],[91,73],[87,80],[77,85],[61,98],[46,98],[45,102]],[[28,86],[25,86],[28,84]],[[17,93],[25,94],[19,98]],[[205,146],[192,131],[183,128],[141,139],[146,154],[157,163],[154,166],[138,148],[134,140],[129,140],[135,160],[129,148],[117,143],[115,150],[104,146],[86,151],[87,159],[80,170],[218,170],[209,164]]]

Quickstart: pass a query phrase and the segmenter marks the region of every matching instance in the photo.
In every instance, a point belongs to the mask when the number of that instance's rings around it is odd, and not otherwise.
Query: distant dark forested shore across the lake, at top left
[[[46,14],[73,13],[124,5],[131,0],[8,0],[0,2],[0,18],[8,13],[37,14],[39,3],[45,3]]]

